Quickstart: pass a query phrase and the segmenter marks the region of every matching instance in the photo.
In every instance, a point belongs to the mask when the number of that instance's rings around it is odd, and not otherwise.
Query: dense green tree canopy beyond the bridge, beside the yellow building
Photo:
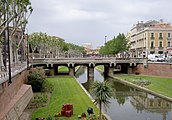
[[[125,52],[129,49],[130,45],[125,35],[119,33],[117,37],[108,41],[105,46],[101,46],[99,53],[102,55],[116,55],[121,52]]]

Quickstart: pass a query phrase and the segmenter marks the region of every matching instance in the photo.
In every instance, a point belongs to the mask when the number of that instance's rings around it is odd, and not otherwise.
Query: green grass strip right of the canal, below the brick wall
[[[132,81],[132,80],[148,80],[151,82],[150,85],[146,88],[153,90],[157,93],[163,94],[168,97],[172,97],[172,78],[161,78],[155,76],[141,76],[141,75],[120,75],[117,76],[123,80]]]

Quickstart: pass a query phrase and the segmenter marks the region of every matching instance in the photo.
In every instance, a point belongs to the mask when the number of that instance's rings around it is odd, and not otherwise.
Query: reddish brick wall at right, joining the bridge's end
[[[149,63],[147,68],[143,64],[138,64],[133,68],[133,73],[172,78],[172,64]]]

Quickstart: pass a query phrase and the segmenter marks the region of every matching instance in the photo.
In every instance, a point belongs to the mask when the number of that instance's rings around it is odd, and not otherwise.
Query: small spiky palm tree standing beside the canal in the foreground
[[[108,81],[96,81],[91,85],[91,94],[94,98],[94,103],[99,105],[100,120],[102,119],[102,104],[107,107],[109,99],[113,95],[112,84]]]

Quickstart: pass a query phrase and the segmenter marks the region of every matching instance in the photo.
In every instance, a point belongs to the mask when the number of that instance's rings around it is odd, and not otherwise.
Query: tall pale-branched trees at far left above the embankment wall
[[[3,44],[5,53],[3,57],[6,59],[7,38],[9,37],[10,52],[13,54],[11,60],[13,57],[15,62],[18,62],[19,50],[23,52],[25,28],[33,11],[31,3],[29,0],[0,0],[0,11],[0,38],[3,38],[0,42]],[[21,37],[16,38],[19,32]],[[24,59],[24,53],[21,55]]]

